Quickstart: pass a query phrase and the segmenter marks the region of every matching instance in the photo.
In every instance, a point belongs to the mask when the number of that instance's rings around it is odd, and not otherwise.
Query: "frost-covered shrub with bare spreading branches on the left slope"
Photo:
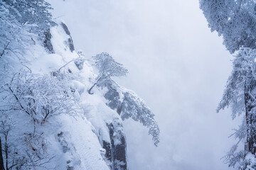
[[[75,115],[75,100],[68,80],[59,78],[50,74],[15,74],[11,82],[2,87],[6,95],[2,108],[26,113],[42,124],[61,113]]]

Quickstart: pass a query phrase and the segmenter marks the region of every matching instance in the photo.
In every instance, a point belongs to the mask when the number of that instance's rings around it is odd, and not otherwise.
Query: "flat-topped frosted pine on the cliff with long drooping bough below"
[[[92,94],[91,91],[94,86],[107,88],[107,91],[104,92],[104,97],[109,101],[107,106],[116,110],[122,120],[132,118],[142,123],[146,128],[149,128],[149,135],[152,136],[154,145],[157,147],[160,130],[156,120],[154,120],[154,113],[134,91],[119,86],[111,79],[111,77],[125,76],[128,70],[122,64],[114,61],[113,57],[107,52],[95,55],[92,59],[94,60],[93,66],[97,69],[98,75],[88,93]]]

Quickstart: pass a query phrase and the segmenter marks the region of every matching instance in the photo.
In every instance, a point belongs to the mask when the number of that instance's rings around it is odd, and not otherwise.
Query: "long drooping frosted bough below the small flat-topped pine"
[[[160,134],[159,126],[154,120],[154,113],[146,106],[142,98],[139,98],[133,91],[123,91],[122,87],[111,79],[105,80],[99,86],[102,88],[107,87],[107,91],[104,94],[107,99],[106,105],[117,111],[122,120],[132,118],[149,128],[149,135],[152,135],[154,145],[157,146]]]

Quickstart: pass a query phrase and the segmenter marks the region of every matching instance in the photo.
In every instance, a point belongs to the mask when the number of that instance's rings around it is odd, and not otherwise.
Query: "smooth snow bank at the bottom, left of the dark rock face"
[[[62,115],[60,120],[63,125],[60,130],[66,134],[67,140],[73,146],[70,149],[71,155],[77,154],[75,159],[80,162],[77,169],[109,169],[102,159],[102,148],[90,123],[85,118],[74,119],[68,115]],[[68,159],[73,160],[74,157]]]

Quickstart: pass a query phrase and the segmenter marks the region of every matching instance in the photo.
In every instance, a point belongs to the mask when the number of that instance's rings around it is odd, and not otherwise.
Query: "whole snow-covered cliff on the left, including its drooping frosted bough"
[[[127,118],[159,143],[154,114],[133,91],[107,77],[88,93],[99,70],[63,21],[38,31],[12,3],[0,2],[0,169],[128,169]]]

